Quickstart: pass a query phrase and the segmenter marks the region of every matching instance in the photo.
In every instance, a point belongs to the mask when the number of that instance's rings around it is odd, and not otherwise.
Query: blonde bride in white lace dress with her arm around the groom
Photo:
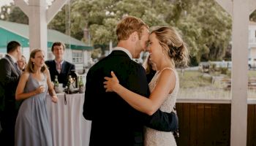
[[[158,109],[172,112],[176,104],[179,89],[176,65],[187,66],[188,51],[178,32],[171,27],[157,27],[149,36],[148,51],[151,61],[157,66],[157,73],[149,83],[149,98],[140,96],[120,85],[116,75],[105,77],[104,87],[107,92],[118,93],[129,105],[140,112],[153,115]],[[146,128],[144,144],[146,146],[175,146],[172,132]]]

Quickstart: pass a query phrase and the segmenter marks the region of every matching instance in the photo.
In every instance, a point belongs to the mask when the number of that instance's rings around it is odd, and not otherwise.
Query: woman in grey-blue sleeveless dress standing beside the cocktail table
[[[33,50],[26,71],[18,83],[15,98],[24,101],[15,124],[16,146],[53,145],[46,109],[46,93],[49,91],[53,102],[57,102],[57,96],[50,82],[44,57],[42,50]]]

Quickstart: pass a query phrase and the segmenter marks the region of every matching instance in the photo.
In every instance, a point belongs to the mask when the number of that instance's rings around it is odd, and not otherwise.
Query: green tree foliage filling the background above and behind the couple
[[[8,19],[25,20],[16,11],[12,9]],[[176,28],[187,42],[195,64],[222,60],[230,43],[232,20],[212,0],[72,0],[51,20],[48,28],[66,34],[70,31],[72,37],[86,43],[91,39],[94,46],[104,50],[110,41],[116,45],[116,24],[125,15],[141,18],[148,26]],[[256,12],[250,18],[256,20]],[[90,34],[87,40],[83,38],[85,29]]]

